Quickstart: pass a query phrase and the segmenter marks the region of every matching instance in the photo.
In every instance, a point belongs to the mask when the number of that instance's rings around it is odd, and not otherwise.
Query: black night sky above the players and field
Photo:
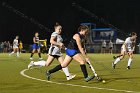
[[[76,32],[82,22],[92,22],[97,23],[99,27],[107,27],[74,8],[73,2],[104,18],[125,33],[131,31],[139,33],[139,0],[3,0],[0,2],[0,41],[12,42],[15,35],[19,35],[24,43],[32,43],[35,32],[39,32],[42,39],[49,38],[51,34],[3,7],[2,2],[34,18],[49,29],[53,29],[55,22],[59,22],[63,26],[63,36],[67,38],[66,40]]]

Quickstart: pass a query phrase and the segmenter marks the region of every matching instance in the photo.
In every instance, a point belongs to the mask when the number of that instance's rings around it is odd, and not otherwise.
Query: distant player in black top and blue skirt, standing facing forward
[[[33,43],[34,43],[33,46],[32,46],[33,50],[32,50],[30,59],[33,60],[32,57],[33,57],[35,51],[37,50],[39,59],[41,60],[42,58],[41,58],[41,53],[40,53],[39,34],[38,34],[38,32],[36,32],[35,36],[33,37]]]

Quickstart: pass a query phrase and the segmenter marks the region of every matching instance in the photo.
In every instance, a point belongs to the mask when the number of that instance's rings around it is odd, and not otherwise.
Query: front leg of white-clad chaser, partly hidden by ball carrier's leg
[[[62,64],[64,61],[64,57],[63,56],[58,57],[58,61],[60,62],[60,64]],[[71,75],[69,73],[68,67],[62,68],[62,70],[65,73],[67,80],[71,80],[75,77],[75,75]]]

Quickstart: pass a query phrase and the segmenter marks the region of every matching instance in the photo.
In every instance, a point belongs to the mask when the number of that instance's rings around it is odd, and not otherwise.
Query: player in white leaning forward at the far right
[[[135,32],[131,33],[131,37],[126,38],[124,44],[121,47],[121,54],[117,57],[114,56],[114,59],[116,59],[112,64],[114,69],[116,67],[116,64],[119,61],[121,61],[126,54],[128,54],[128,56],[129,56],[127,69],[130,69],[130,65],[131,65],[132,58],[133,58],[133,52],[135,50],[136,38],[137,38],[137,34]]]

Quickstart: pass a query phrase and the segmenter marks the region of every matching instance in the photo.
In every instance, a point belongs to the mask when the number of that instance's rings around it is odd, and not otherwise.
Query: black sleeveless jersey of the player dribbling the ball
[[[80,33],[77,33],[77,34],[80,36],[81,44],[82,44],[82,47],[83,47],[84,46],[84,43],[85,43],[85,36],[81,35]],[[76,40],[73,39],[73,38],[70,40],[67,48],[68,49],[75,49],[75,50],[78,50],[79,51],[78,45],[76,43]]]

